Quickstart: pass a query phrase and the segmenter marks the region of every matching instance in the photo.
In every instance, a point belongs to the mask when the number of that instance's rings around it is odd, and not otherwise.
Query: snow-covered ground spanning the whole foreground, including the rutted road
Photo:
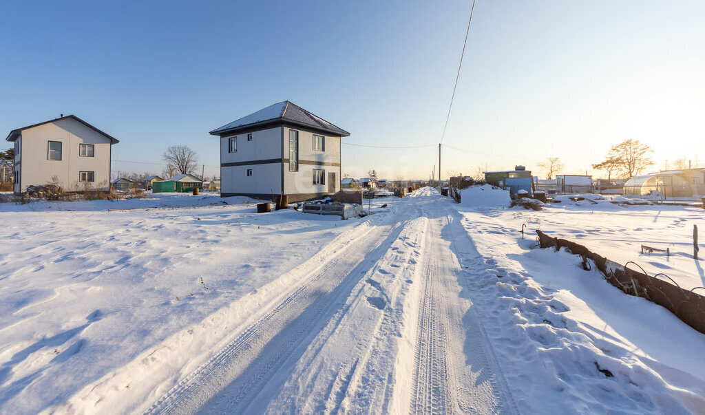
[[[611,226],[628,255],[628,238],[675,239],[702,210],[534,212],[422,189],[342,221],[251,202],[0,204],[0,412],[705,408],[705,335],[519,233],[620,261],[598,247]],[[685,254],[644,259],[694,278]]]

